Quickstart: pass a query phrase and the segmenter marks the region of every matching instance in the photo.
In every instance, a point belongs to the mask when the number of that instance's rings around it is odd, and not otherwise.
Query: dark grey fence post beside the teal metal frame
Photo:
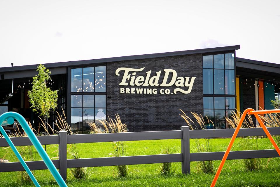
[[[58,160],[59,173],[64,181],[67,179],[67,131],[59,131]]]

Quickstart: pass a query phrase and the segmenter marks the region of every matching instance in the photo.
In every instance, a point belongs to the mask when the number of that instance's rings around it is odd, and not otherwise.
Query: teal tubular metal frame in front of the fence
[[[2,135],[4,136],[4,138],[6,139],[6,141],[8,142],[8,144],[10,145],[10,147],[12,148],[13,152],[15,153],[15,155],[17,156],[18,160],[20,161],[20,163],[24,167],[25,171],[30,176],[30,178],[33,181],[33,183],[35,184],[35,186],[36,187],[40,187],[38,181],[35,179],[34,175],[31,173],[29,167],[24,162],[24,160],[21,157],[20,153],[15,148],[15,145],[11,141],[10,137],[8,136],[8,134],[5,132],[5,130],[2,127],[4,125],[13,124],[14,123],[14,119],[16,119],[20,123],[22,129],[24,130],[24,132],[26,133],[26,135],[30,139],[30,141],[33,144],[33,146],[38,151],[39,155],[41,156],[41,158],[45,162],[46,166],[48,167],[48,169],[50,170],[50,173],[53,175],[53,177],[57,181],[58,185],[60,187],[67,187],[65,181],[62,179],[62,177],[59,174],[59,172],[57,171],[55,165],[50,160],[50,157],[48,156],[46,151],[43,149],[41,143],[39,142],[38,138],[35,136],[34,132],[31,130],[29,125],[27,124],[27,122],[24,119],[24,117],[22,117],[22,115],[18,114],[17,112],[6,112],[6,113],[4,113],[4,114],[2,114],[0,116],[0,124],[1,124],[0,125],[0,131],[1,131]]]

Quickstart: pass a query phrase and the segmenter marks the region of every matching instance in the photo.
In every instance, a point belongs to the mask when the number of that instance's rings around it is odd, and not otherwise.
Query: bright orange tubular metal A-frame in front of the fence
[[[277,144],[275,143],[274,139],[272,138],[272,136],[270,135],[269,131],[267,130],[267,128],[265,127],[265,124],[262,122],[262,120],[260,119],[260,116],[259,114],[271,114],[271,113],[280,113],[280,109],[274,109],[274,110],[254,110],[253,108],[247,108],[246,110],[244,110],[241,118],[240,118],[240,121],[232,135],[232,138],[230,140],[230,143],[228,144],[227,146],[227,150],[225,151],[225,154],[223,156],[223,159],[220,163],[220,166],[217,170],[217,173],[211,183],[211,186],[210,187],[214,187],[217,180],[218,180],[218,177],[220,175],[220,172],[222,171],[223,169],[223,166],[225,164],[225,160],[227,160],[227,156],[228,154],[230,153],[230,150],[231,150],[231,147],[232,147],[232,144],[238,134],[238,131],[246,117],[246,115],[255,115],[256,119],[258,120],[258,122],[260,123],[260,126],[262,127],[263,131],[265,131],[265,134],[267,135],[268,139],[271,141],[272,145],[274,146],[274,148],[276,149],[277,153],[279,154],[280,156],[280,150],[279,150],[279,147],[277,146]]]

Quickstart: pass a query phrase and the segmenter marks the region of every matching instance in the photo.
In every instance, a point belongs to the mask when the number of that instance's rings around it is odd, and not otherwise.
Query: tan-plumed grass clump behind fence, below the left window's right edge
[[[118,114],[115,115],[116,119],[113,120],[108,116],[107,120],[98,120],[98,123],[91,122],[88,123],[91,128],[91,133],[120,133],[120,132],[127,132],[126,124],[122,123],[120,120],[120,116]],[[109,153],[114,157],[122,157],[126,156],[126,144],[124,141],[115,141],[112,142],[113,153]],[[120,177],[127,177],[129,175],[129,168],[127,165],[118,165],[117,171],[118,176]]]

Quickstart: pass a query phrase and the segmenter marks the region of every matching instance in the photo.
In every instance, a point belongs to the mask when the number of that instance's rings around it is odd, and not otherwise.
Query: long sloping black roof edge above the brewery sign
[[[43,64],[47,68],[57,68],[57,67],[66,67],[73,65],[86,65],[86,64],[95,64],[95,63],[107,63],[107,62],[117,62],[123,60],[139,60],[146,58],[158,58],[158,57],[167,57],[167,56],[179,56],[179,55],[189,55],[189,54],[197,54],[197,53],[214,53],[219,51],[234,51],[240,49],[240,45],[235,46],[225,46],[225,47],[214,47],[214,48],[206,48],[206,49],[194,49],[187,51],[174,51],[167,53],[153,53],[153,54],[144,54],[144,55],[132,55],[132,56],[121,56],[121,57],[113,57],[113,58],[100,58],[93,60],[77,60],[77,61],[69,61],[69,62],[56,62],[56,63],[47,63]],[[15,72],[15,71],[26,71],[26,70],[34,70],[36,69],[38,64],[36,65],[23,65],[23,66],[14,66],[14,67],[1,67],[0,72]]]

